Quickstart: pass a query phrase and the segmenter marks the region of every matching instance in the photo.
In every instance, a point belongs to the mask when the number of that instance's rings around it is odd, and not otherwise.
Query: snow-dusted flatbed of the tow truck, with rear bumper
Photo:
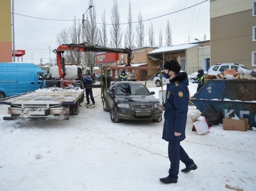
[[[85,89],[80,87],[45,88],[0,100],[10,105],[4,120],[68,120],[78,115]]]

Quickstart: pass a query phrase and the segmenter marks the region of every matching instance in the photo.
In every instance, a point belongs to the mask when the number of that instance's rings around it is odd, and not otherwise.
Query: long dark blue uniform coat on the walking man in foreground
[[[167,84],[166,99],[163,104],[164,125],[162,139],[180,142],[186,138],[185,129],[189,108],[189,80],[185,72],[179,73]],[[175,136],[174,132],[181,133]]]

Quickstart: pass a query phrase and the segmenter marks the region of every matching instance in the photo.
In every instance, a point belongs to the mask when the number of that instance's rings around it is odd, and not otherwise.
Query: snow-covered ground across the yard
[[[152,81],[147,87],[158,98],[161,88]],[[189,84],[191,96],[196,87]],[[228,131],[220,124],[197,135],[191,118],[200,112],[189,106],[181,145],[198,169],[164,185],[159,178],[168,175],[169,160],[163,122],[113,123],[100,89],[93,92],[95,107],[83,102],[68,121],[3,121],[8,106],[0,105],[0,191],[256,190],[256,131]]]

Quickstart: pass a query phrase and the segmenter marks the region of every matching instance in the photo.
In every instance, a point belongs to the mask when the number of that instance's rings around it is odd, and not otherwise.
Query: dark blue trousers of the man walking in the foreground
[[[168,144],[168,157],[171,162],[169,169],[169,177],[177,180],[179,174],[180,160],[187,166],[190,166],[194,161],[189,158],[189,155],[180,145],[180,142]]]

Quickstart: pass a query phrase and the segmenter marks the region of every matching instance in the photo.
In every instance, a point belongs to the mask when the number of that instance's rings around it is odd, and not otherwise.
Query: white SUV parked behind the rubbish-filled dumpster
[[[207,74],[208,75],[218,75],[219,73],[223,73],[224,70],[230,70],[230,69],[234,69],[236,70],[236,72],[238,72],[238,68],[243,68],[246,70],[250,70],[248,68],[246,68],[243,65],[239,65],[236,63],[219,63],[216,65],[213,65],[209,68]]]

